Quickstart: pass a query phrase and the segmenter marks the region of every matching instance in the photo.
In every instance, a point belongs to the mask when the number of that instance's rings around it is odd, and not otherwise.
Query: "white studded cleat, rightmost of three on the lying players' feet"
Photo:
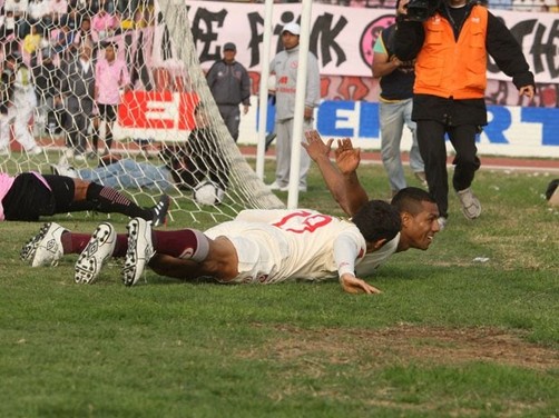
[[[147,263],[154,257],[150,222],[134,218],[128,222],[128,250],[126,251],[122,282],[134,286],[144,272]]]

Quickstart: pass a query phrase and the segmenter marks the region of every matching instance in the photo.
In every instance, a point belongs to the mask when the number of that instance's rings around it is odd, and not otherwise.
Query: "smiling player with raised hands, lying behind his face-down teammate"
[[[305,132],[305,139],[303,147],[318,166],[330,192],[340,207],[349,216],[353,216],[369,201],[356,175],[361,161],[360,149],[353,148],[349,138],[340,140],[334,166],[330,160],[333,139],[324,143],[315,130]],[[394,252],[406,251],[410,248],[426,250],[434,235],[441,230],[439,208],[433,197],[423,189],[408,187],[400,190],[391,203],[402,218],[402,230],[395,238],[398,242],[393,243]]]

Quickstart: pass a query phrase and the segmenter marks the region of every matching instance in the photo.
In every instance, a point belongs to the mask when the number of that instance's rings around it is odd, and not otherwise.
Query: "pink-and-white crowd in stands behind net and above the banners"
[[[237,0],[263,2],[264,0]],[[362,8],[394,8],[396,0],[320,0],[322,3]],[[559,11],[559,0],[481,0],[490,9],[514,11]],[[300,2],[275,0],[275,2]],[[63,111],[57,115],[63,69],[80,58],[87,43],[96,61],[106,40],[133,33],[156,21],[155,0],[0,0],[0,70],[9,57],[17,58],[30,72],[37,93],[36,135],[65,126]],[[128,42],[133,42],[128,39]],[[120,52],[120,54],[122,51]],[[131,88],[150,89],[143,73],[141,58],[126,57]],[[95,62],[94,62],[95,64]],[[62,73],[60,72],[62,71]],[[23,79],[26,79],[23,77]],[[58,102],[58,106],[60,103]],[[88,128],[90,129],[90,128]]]

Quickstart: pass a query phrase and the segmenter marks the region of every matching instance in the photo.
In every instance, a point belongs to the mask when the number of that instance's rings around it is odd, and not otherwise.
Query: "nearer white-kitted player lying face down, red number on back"
[[[124,256],[127,286],[135,285],[149,265],[161,276],[183,280],[213,277],[220,282],[273,283],[339,277],[347,292],[379,293],[354,271],[367,258],[370,266],[388,258],[393,249],[386,243],[400,228],[400,215],[382,200],[364,205],[351,221],[308,209],[247,210],[205,232],[153,230],[150,222],[135,218],[127,226],[128,237],[117,235],[107,222],[89,242],[84,235],[65,231],[58,240],[37,247],[32,265],[53,263],[81,249],[77,282],[92,282],[106,259]]]

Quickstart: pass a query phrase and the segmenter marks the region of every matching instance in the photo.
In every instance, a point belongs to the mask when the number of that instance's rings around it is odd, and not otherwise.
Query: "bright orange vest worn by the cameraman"
[[[483,98],[487,86],[488,10],[474,6],[458,41],[439,13],[423,22],[425,41],[415,61],[414,93],[454,99]]]

